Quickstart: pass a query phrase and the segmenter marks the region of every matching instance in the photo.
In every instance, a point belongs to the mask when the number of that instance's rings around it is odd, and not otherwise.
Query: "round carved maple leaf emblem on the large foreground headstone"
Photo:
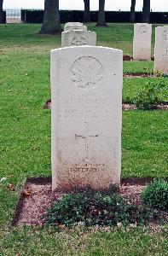
[[[71,80],[83,90],[93,90],[103,79],[103,67],[100,61],[91,56],[78,58],[71,67]]]

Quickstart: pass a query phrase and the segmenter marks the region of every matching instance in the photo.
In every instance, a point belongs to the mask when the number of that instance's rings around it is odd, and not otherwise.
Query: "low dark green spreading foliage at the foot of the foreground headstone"
[[[60,201],[56,201],[49,208],[44,217],[49,225],[74,224],[107,225],[118,223],[144,223],[151,218],[148,209],[127,204],[122,196],[116,193],[116,189],[96,192],[93,189],[76,190],[63,195]]]

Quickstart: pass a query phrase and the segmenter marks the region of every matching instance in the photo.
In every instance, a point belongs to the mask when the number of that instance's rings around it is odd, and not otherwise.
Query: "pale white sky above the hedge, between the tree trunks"
[[[90,9],[98,9],[98,0],[90,0]],[[44,0],[3,0],[3,9],[43,9]],[[84,9],[84,0],[60,0],[60,9]],[[107,10],[130,10],[130,0],[106,0]],[[153,11],[168,11],[168,0],[151,0]],[[142,0],[136,0],[142,10]]]

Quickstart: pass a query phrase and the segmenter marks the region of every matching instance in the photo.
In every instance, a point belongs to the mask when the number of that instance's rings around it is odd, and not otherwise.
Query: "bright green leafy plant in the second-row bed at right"
[[[158,105],[161,93],[166,91],[165,82],[160,81],[158,84],[148,82],[142,86],[138,94],[133,99],[137,108],[149,109]]]

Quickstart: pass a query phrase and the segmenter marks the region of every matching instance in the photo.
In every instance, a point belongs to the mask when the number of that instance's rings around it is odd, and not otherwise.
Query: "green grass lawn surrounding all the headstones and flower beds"
[[[148,228],[106,233],[98,230],[13,228],[10,220],[26,177],[51,176],[49,50],[61,37],[38,35],[40,25],[0,26],[0,177],[14,183],[0,186],[0,255],[167,255],[165,232]],[[97,28],[98,45],[123,49],[132,55],[133,26],[111,24]],[[153,47],[154,52],[154,32]],[[125,73],[152,73],[154,61],[125,61]],[[131,100],[147,81],[124,79],[123,100]],[[167,97],[163,96],[166,101]],[[124,111],[122,177],[168,177],[166,111]]]

